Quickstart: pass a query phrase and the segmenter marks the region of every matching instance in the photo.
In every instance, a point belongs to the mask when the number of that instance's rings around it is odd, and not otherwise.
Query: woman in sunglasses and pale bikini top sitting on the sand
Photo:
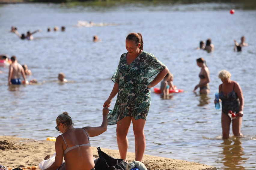
[[[56,130],[62,134],[56,138],[56,157],[53,164],[44,170],[94,170],[93,152],[89,136],[98,136],[107,130],[108,108],[102,110],[103,120],[99,127],[74,128],[71,117],[63,112],[56,119]],[[62,163],[62,160],[65,163]],[[48,156],[50,158],[50,156]]]

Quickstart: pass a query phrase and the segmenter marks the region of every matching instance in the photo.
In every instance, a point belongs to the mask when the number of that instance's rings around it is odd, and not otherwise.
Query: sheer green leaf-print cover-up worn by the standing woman
[[[111,78],[119,86],[114,109],[108,114],[108,125],[115,125],[128,116],[146,120],[151,102],[148,84],[166,68],[154,54],[146,51],[142,51],[131,64],[127,64],[126,55],[121,55]]]

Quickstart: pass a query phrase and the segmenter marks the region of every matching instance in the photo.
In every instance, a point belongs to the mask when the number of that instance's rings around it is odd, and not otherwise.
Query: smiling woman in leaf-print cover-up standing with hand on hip
[[[117,145],[120,158],[126,160],[127,134],[131,122],[135,137],[135,160],[142,161],[146,147],[144,126],[150,106],[150,88],[157,85],[169,72],[168,68],[152,53],[143,51],[140,33],[126,37],[126,50],[112,76],[114,87],[103,107],[110,107],[114,96],[117,100],[108,115],[108,125],[117,124]]]

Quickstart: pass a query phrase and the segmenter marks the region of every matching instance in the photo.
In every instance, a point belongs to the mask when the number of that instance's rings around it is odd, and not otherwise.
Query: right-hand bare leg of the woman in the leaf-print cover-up
[[[135,139],[135,160],[142,162],[142,158],[146,148],[146,139],[144,135],[144,126],[146,124],[146,121],[144,119],[135,120],[133,118],[132,121]]]

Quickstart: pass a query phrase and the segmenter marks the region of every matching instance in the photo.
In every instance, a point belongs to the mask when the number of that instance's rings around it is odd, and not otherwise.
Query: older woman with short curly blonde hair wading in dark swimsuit
[[[219,96],[222,105],[221,126],[222,138],[229,138],[230,123],[232,121],[232,131],[234,136],[243,137],[241,133],[242,116],[244,109],[243,92],[239,84],[230,80],[231,74],[227,70],[219,72],[222,84],[219,86]],[[216,103],[216,101],[215,101]],[[229,111],[236,112],[237,118],[232,119],[228,116]]]

